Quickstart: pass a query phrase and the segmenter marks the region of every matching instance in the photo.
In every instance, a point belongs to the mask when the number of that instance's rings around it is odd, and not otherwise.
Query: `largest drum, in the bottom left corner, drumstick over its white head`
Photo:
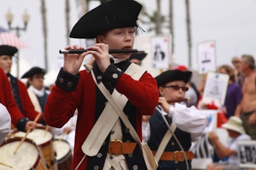
[[[30,139],[20,145],[15,154],[20,138],[6,139],[0,147],[0,169],[37,169],[45,170],[47,167],[42,162],[38,146]]]

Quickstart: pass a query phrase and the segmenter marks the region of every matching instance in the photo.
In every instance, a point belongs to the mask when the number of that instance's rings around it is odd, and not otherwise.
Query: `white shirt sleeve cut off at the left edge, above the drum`
[[[0,146],[4,138],[10,132],[11,116],[6,107],[0,103]]]

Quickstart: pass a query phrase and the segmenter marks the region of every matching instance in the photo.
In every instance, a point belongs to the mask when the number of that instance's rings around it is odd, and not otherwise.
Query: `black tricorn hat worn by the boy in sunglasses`
[[[191,78],[191,71],[180,71],[177,69],[164,71],[163,73],[156,76],[157,85],[163,86],[170,81],[182,80],[185,83],[188,83]]]

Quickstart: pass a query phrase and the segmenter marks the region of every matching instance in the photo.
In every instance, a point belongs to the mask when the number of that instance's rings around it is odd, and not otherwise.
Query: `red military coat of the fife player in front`
[[[58,76],[58,80],[60,80],[60,76]],[[61,81],[70,83],[65,78]],[[76,168],[84,156],[81,146],[95,122],[96,88],[92,75],[86,71],[80,71],[79,82],[74,92],[54,86],[45,105],[45,121],[54,127],[62,127],[74,115],[76,108],[78,109],[72,169]],[[132,79],[127,74],[120,74],[115,89],[120,94],[124,94],[131,104],[136,106],[136,131],[142,138],[141,117],[152,115],[158,103],[156,80],[148,73],[143,74],[139,81]],[[87,161],[88,157],[79,166],[79,169],[86,169]]]

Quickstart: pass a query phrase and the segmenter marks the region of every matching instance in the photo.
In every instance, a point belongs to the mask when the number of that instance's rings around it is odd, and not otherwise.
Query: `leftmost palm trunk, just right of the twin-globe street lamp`
[[[47,18],[46,18],[46,8],[45,8],[45,0],[41,0],[41,13],[42,13],[42,22],[43,22],[43,34],[44,34],[44,59],[45,59],[45,71],[48,71],[48,61],[47,61]]]

